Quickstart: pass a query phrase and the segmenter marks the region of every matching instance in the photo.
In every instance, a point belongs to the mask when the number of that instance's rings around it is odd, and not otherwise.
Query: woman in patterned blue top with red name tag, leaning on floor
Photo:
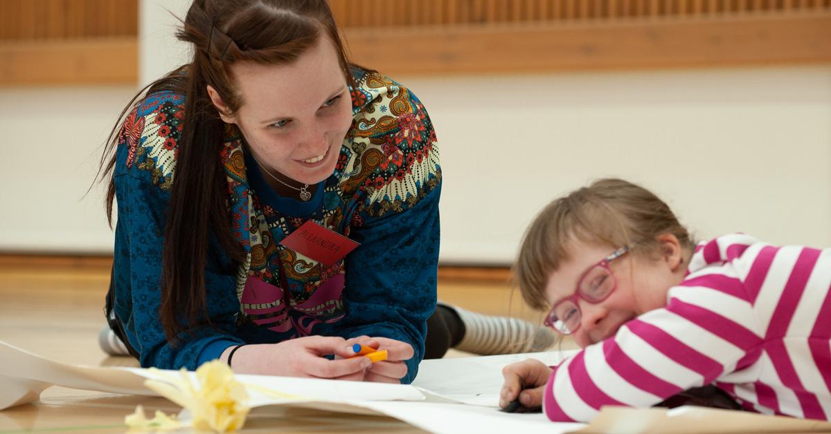
[[[347,61],[322,0],[197,0],[178,37],[193,60],[130,105],[106,154],[111,328],[142,366],[409,383],[439,249],[420,101]],[[449,330],[468,315],[436,312]]]

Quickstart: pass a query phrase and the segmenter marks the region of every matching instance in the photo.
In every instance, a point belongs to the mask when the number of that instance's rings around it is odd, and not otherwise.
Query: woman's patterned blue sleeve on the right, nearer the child
[[[424,357],[426,320],[435,310],[439,256],[439,149],[430,117],[410,90],[376,73],[352,91],[354,152],[344,173],[356,186],[338,323],[345,338],[367,334],[412,344],[402,383]]]

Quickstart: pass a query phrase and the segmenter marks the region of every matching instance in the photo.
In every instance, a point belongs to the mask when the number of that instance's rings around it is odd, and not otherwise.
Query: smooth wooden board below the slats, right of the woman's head
[[[831,62],[831,12],[573,25],[347,28],[352,59],[391,76]]]

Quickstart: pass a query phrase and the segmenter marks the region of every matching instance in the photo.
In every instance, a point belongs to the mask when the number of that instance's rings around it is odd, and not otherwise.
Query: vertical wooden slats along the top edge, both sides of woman
[[[831,0],[330,0],[342,27],[724,19],[829,12]],[[138,0],[0,0],[0,41],[134,36]]]

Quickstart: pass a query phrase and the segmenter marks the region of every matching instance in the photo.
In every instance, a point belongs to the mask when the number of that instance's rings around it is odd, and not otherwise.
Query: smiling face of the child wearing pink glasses
[[[686,273],[686,261],[681,261],[683,251],[675,237],[668,237],[671,240],[661,241],[660,258],[628,252],[609,264],[617,286],[606,300],[592,304],[576,299],[580,322],[573,336],[580,347],[611,337],[630,319],[666,305],[667,290],[681,283]],[[580,277],[619,247],[572,241],[568,246],[572,257],[548,277],[545,288],[548,302],[554,305],[574,295]]]

